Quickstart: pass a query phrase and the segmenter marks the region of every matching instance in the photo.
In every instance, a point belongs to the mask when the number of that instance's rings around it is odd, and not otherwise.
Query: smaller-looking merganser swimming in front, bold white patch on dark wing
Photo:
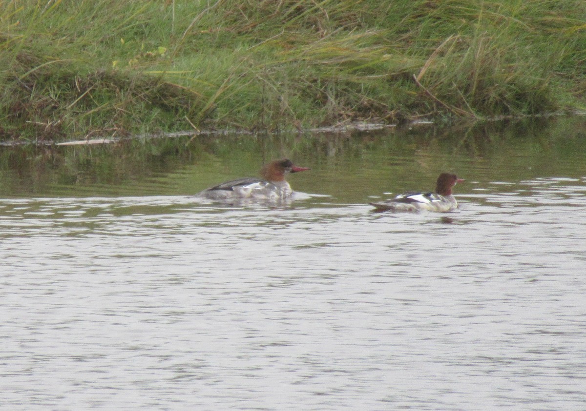
[[[391,200],[380,203],[370,203],[376,209],[374,211],[438,211],[445,213],[458,208],[458,202],[452,195],[452,187],[461,183],[456,174],[441,173],[438,177],[434,193],[404,193]]]

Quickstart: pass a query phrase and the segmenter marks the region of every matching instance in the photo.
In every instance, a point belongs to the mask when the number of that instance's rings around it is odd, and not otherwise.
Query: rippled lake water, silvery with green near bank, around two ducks
[[[1,408],[583,410],[585,124],[2,149]],[[290,205],[191,196],[283,155]]]

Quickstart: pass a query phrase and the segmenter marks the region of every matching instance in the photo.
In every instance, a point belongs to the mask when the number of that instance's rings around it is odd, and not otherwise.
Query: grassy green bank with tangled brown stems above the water
[[[577,0],[8,0],[0,139],[584,107]]]

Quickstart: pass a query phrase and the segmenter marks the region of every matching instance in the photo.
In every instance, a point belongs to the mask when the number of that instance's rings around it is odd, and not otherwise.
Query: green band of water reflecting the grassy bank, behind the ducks
[[[581,118],[472,128],[323,133],[314,136],[202,136],[121,142],[105,147],[0,148],[6,196],[189,195],[217,181],[255,176],[273,158],[312,167],[297,191],[336,201],[432,190],[443,171],[467,180],[517,182],[580,178],[586,139]]]

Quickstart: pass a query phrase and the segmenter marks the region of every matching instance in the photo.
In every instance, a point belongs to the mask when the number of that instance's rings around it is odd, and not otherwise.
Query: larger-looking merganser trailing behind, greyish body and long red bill
[[[285,174],[309,170],[298,167],[289,159],[274,160],[266,164],[260,171],[262,179],[248,177],[245,179],[226,181],[203,190],[196,195],[210,200],[290,200],[293,194],[291,186],[285,181]]]

